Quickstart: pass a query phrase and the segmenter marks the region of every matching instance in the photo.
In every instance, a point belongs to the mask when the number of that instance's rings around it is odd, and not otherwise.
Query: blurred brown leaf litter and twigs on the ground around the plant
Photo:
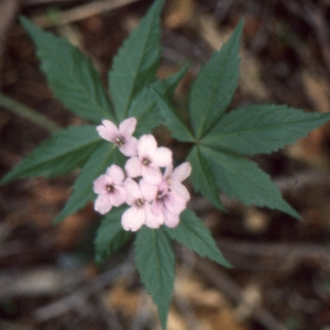
[[[88,54],[107,85],[112,57],[153,1],[0,1],[0,176],[50,136],[22,117],[19,101],[57,125],[84,121],[48,89],[20,14]],[[190,69],[177,89],[183,111],[191,81],[244,18],[241,76],[232,108],[286,103],[330,110],[329,0],[167,0],[157,73]],[[134,56],[134,54],[132,54]],[[10,102],[8,101],[10,98]],[[21,110],[18,110],[21,109]],[[185,157],[165,129],[155,134]],[[226,270],[176,245],[170,330],[330,329],[330,124],[271,155],[253,157],[302,216],[245,207],[221,195],[219,212],[194,194],[189,207],[234,265]],[[101,267],[94,263],[100,217],[88,205],[59,226],[52,220],[77,173],[20,179],[0,187],[0,329],[161,329],[134,270],[131,244]]]

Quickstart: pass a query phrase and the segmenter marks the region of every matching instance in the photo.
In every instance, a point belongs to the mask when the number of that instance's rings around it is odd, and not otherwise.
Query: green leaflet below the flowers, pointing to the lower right
[[[200,256],[207,256],[226,267],[231,267],[231,264],[218,249],[211,232],[196,217],[194,211],[186,209],[182,212],[180,222],[176,228],[164,227],[164,229],[173,240],[186,245]]]

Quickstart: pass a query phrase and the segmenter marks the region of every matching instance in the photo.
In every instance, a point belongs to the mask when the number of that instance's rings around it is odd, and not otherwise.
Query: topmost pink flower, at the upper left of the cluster
[[[102,125],[97,127],[97,131],[102,139],[111,141],[119,146],[122,154],[131,157],[138,155],[138,140],[132,136],[135,131],[135,127],[136,119],[134,117],[123,120],[119,124],[119,129],[112,121],[103,119]]]

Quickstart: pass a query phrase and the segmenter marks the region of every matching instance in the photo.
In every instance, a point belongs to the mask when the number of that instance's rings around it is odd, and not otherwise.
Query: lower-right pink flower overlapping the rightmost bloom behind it
[[[153,200],[152,212],[155,216],[163,216],[164,223],[175,228],[179,222],[179,213],[186,209],[186,204],[185,196],[175,190],[170,191],[166,180],[163,180]]]

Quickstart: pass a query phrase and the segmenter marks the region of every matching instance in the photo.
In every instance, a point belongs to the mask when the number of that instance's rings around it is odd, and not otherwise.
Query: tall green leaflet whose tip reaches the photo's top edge
[[[109,85],[119,121],[128,117],[131,102],[139,91],[154,79],[161,58],[160,14],[163,3],[164,0],[154,2],[113,58]]]

